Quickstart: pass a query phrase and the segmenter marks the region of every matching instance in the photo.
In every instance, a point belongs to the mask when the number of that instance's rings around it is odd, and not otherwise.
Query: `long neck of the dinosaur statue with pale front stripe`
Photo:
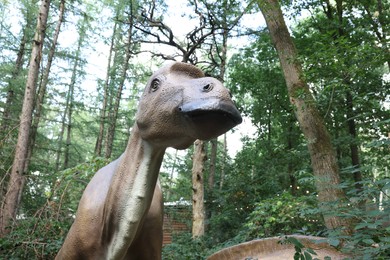
[[[112,239],[108,259],[121,259],[131,245],[137,230],[149,210],[165,148],[153,147],[133,127],[126,151],[119,159],[108,192],[103,234]],[[107,216],[107,215],[106,215]]]

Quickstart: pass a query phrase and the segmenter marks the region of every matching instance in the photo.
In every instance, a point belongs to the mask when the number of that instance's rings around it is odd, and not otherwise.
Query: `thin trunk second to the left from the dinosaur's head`
[[[111,37],[110,51],[109,51],[109,55],[108,55],[106,79],[104,81],[104,94],[103,94],[102,109],[100,110],[99,133],[98,133],[98,138],[96,140],[96,145],[95,145],[95,155],[96,156],[101,156],[102,155],[102,145],[103,145],[103,137],[104,137],[104,125],[105,125],[105,122],[107,120],[106,114],[107,114],[107,104],[108,104],[108,100],[109,100],[108,88],[109,88],[109,82],[110,82],[111,59],[112,59],[112,53],[114,51],[114,43],[115,43],[117,26],[118,26],[118,23],[115,21],[114,29],[113,29],[112,37]]]

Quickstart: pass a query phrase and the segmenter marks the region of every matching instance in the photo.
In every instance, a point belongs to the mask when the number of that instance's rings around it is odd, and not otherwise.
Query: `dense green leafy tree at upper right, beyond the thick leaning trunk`
[[[368,15],[379,6],[369,1],[310,2],[312,17],[294,29],[300,54],[305,57],[305,77],[313,84],[325,122],[335,137],[340,167],[348,173],[344,180],[353,182],[357,193],[364,188],[364,177],[370,175],[367,150],[361,148],[370,138],[378,138],[373,122],[386,118],[382,104],[388,83],[382,78],[388,51],[386,45],[378,44],[382,37],[375,32],[380,27],[378,20]],[[312,51],[313,41],[316,52]]]

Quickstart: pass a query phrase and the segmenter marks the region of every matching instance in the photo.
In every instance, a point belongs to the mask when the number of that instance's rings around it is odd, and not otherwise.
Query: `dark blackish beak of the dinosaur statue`
[[[240,112],[230,100],[199,99],[181,105],[178,110],[201,140],[218,137],[242,122]]]

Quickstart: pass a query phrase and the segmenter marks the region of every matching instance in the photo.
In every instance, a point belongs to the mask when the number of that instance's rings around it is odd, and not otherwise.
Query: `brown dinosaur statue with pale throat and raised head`
[[[188,148],[241,121],[218,80],[181,62],[159,69],[140,98],[125,152],[87,185],[56,259],[161,259],[165,149]]]

